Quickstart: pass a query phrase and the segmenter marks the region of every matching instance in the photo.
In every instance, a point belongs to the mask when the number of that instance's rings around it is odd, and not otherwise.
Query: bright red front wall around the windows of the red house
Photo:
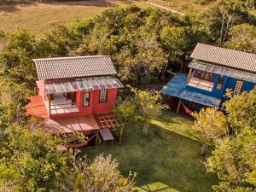
[[[99,102],[100,90],[90,90],[90,105],[89,107],[83,107],[83,96],[85,91],[77,91],[76,102],[79,108],[79,112],[74,113],[61,113],[61,114],[50,114],[49,117],[55,118],[65,118],[65,117],[76,117],[82,115],[89,115],[92,113],[104,113],[111,112],[113,110],[114,103],[116,102],[116,97],[118,89],[109,89],[107,102]]]

